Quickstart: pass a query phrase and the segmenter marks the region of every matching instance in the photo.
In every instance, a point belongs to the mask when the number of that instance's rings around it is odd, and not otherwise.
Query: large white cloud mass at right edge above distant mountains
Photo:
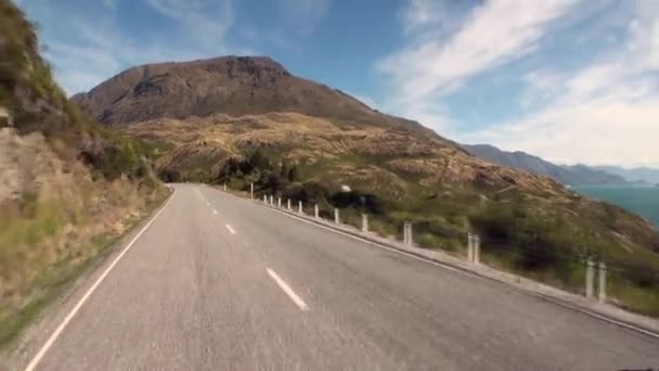
[[[531,78],[531,89],[552,92],[546,107],[461,139],[565,163],[659,164],[658,16],[659,9],[638,9],[625,49],[554,79]]]

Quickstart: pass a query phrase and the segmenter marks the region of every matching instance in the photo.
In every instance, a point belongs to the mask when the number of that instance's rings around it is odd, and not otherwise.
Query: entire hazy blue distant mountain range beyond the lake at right
[[[625,169],[618,166],[557,165],[538,156],[516,151],[502,151],[489,144],[463,144],[471,154],[501,166],[516,167],[554,178],[568,186],[607,186],[659,183],[659,169]]]

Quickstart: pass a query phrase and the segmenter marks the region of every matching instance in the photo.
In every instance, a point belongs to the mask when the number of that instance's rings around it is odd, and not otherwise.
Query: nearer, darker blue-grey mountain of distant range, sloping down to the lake
[[[628,180],[605,169],[585,165],[561,166],[525,152],[502,151],[490,144],[463,144],[474,155],[501,166],[520,168],[537,175],[551,177],[569,186],[624,184]]]

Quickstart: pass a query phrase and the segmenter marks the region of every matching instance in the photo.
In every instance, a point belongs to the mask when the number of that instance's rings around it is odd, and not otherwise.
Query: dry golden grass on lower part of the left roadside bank
[[[3,130],[0,146],[11,154],[0,156],[0,178],[20,179],[0,199],[3,343],[15,334],[16,316],[43,295],[47,281],[98,255],[100,238],[125,232],[164,191],[140,191],[124,177],[92,180],[86,166],[61,161],[39,135],[21,138]]]

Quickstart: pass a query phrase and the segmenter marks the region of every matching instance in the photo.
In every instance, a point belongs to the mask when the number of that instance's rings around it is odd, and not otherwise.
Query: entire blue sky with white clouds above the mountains
[[[465,143],[659,167],[656,0],[20,0],[69,93],[137,64],[269,55]]]

